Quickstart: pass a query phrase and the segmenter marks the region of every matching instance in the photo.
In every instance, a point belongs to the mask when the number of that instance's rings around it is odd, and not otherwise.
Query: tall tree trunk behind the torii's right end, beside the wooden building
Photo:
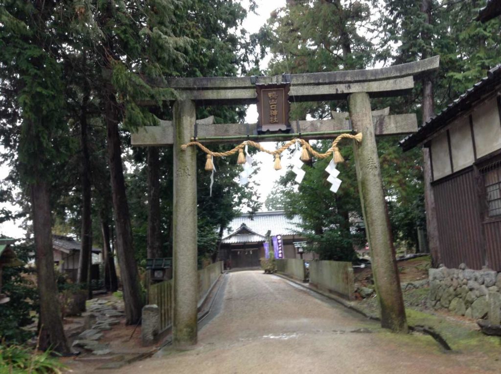
[[[426,15],[426,24],[431,22],[431,0],[423,0],[421,3],[421,12]],[[431,36],[423,34],[422,39],[427,46],[431,46]],[[422,53],[423,60],[429,57],[429,52],[425,49]],[[433,83],[430,77],[423,79],[423,125],[431,117],[435,115],[434,100],[433,100]],[[426,211],[426,231],[428,235],[428,248],[431,253],[432,264],[438,265],[440,263],[440,243],[438,238],[438,222],[436,216],[435,197],[431,182],[433,177],[431,175],[431,159],[430,151],[428,148],[423,147],[423,177],[424,177],[424,209]]]

